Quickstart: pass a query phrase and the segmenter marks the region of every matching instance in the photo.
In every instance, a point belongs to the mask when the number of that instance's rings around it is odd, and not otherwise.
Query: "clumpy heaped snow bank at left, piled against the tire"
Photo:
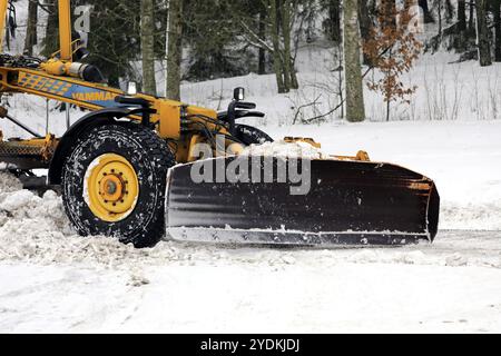
[[[39,197],[22,190],[13,176],[0,172],[0,261],[82,263],[128,269],[143,264],[190,260],[197,254],[197,249],[171,244],[137,250],[112,238],[80,237],[56,192]]]

